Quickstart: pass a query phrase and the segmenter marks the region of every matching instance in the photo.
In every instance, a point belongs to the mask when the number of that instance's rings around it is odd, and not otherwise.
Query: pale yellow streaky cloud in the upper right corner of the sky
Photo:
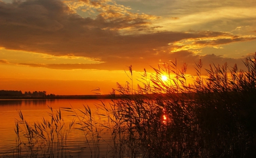
[[[250,26],[254,29],[256,5],[252,0],[247,1],[161,1],[161,8],[155,8],[156,15],[162,15],[159,24],[166,30],[214,30],[233,31],[239,26]],[[148,3],[148,2],[145,2]],[[170,4],[170,5],[164,5]],[[172,17],[179,17],[174,20]],[[241,30],[242,31],[242,30]],[[236,31],[236,34],[241,34]],[[245,32],[243,32],[245,34]],[[250,34],[247,32],[247,34]]]

